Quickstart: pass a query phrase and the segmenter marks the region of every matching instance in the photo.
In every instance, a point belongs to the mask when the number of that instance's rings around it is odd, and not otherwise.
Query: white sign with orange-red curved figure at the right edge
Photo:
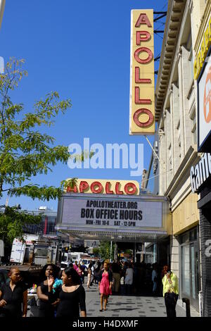
[[[210,51],[209,51],[210,55]],[[211,57],[198,80],[198,151],[211,151]],[[209,140],[208,140],[209,139]]]

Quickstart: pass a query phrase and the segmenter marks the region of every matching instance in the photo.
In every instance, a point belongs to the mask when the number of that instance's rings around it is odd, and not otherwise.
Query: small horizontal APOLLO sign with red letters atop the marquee
[[[65,192],[139,195],[139,182],[136,180],[77,179],[77,184],[74,187],[67,187]]]

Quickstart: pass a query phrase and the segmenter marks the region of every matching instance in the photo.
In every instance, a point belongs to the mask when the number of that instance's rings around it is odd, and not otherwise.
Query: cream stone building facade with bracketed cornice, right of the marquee
[[[200,161],[196,54],[203,35],[203,57],[207,52],[204,46],[206,49],[209,46],[209,8],[210,1],[169,1],[155,87],[158,150],[162,161],[158,194],[168,197],[172,211],[171,268],[179,277],[180,297],[190,299],[191,306],[201,315],[203,229],[198,196],[191,189],[190,171]],[[202,63],[199,67],[202,68]]]

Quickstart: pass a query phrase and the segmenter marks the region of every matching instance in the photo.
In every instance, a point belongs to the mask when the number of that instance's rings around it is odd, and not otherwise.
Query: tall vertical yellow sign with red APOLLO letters
[[[131,13],[130,135],[155,133],[153,9]]]

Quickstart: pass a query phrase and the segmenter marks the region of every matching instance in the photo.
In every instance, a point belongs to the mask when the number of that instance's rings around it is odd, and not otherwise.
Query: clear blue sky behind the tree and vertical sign
[[[148,168],[151,148],[146,139],[129,135],[130,12],[139,8],[166,11],[167,1],[6,0],[0,56],[5,61],[10,56],[25,58],[28,77],[12,95],[13,101],[25,105],[25,112],[54,90],[61,99],[71,99],[70,111],[59,115],[47,130],[56,144],[83,146],[84,137],[89,137],[90,144],[103,146],[144,144],[143,166]],[[154,27],[164,28],[160,23]],[[160,54],[161,46],[162,38],[155,35],[154,56]],[[131,177],[130,170],[71,170],[58,164],[52,173],[39,175],[33,182],[59,186],[68,177],[141,182],[141,177]],[[5,201],[6,196],[1,204]],[[56,209],[58,201],[33,201],[25,196],[9,199],[10,206],[17,203],[27,209]]]

